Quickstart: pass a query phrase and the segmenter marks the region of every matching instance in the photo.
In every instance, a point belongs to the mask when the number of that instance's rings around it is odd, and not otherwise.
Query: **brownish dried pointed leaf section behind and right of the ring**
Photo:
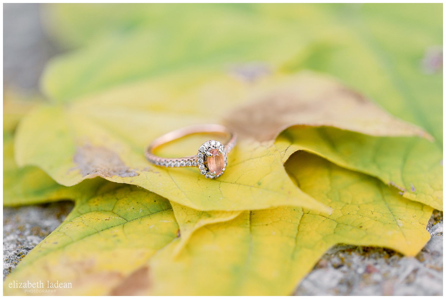
[[[252,103],[231,111],[226,123],[241,135],[273,140],[294,125],[331,126],[372,136],[432,136],[388,114],[332,78],[301,72],[260,86]],[[265,84],[264,84],[265,85]]]

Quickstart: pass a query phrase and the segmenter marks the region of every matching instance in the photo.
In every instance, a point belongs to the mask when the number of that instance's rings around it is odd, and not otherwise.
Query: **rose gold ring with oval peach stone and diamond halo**
[[[197,155],[182,158],[163,158],[153,151],[164,143],[196,133],[223,133],[229,139],[222,144],[218,140],[208,140],[199,148]],[[217,124],[194,125],[169,132],[153,140],[145,150],[146,159],[161,167],[198,167],[206,178],[216,178],[223,174],[227,167],[227,154],[231,152],[237,141],[237,134]]]

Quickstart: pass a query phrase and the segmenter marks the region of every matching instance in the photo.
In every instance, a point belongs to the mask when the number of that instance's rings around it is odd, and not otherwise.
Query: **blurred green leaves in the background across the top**
[[[442,4],[45,4],[41,20],[65,52],[45,68],[48,98],[189,68],[310,69],[424,127],[442,147]]]

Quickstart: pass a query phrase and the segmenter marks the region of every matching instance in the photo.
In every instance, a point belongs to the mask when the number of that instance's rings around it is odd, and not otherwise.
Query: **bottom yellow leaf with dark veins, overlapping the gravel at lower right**
[[[430,238],[425,227],[433,209],[398,196],[379,180],[306,152],[291,157],[287,170],[333,213],[280,207],[207,225],[176,258],[172,252],[179,240],[151,259],[147,294],[290,295],[337,243],[414,256]]]

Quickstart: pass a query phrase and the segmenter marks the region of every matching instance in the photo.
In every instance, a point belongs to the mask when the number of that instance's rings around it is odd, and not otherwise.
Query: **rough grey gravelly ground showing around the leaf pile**
[[[46,61],[58,50],[41,29],[38,4],[4,4],[4,85],[36,91]],[[71,202],[3,209],[3,278],[50,234]],[[324,254],[294,295],[442,295],[443,213],[415,258],[389,249],[338,245]]]

